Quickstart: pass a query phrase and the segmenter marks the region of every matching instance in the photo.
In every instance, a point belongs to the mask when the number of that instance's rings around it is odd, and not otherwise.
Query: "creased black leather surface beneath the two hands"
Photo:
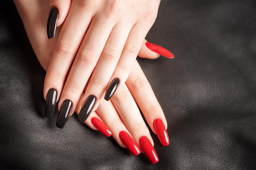
[[[256,1],[162,0],[148,41],[175,59],[138,59],[168,121],[159,162],[70,117],[44,117],[43,81],[11,0],[0,2],[0,169],[256,169]]]

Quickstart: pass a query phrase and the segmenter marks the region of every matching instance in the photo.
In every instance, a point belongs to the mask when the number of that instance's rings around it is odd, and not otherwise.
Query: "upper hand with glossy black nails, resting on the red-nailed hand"
[[[49,2],[49,38],[54,35],[56,22],[62,28],[47,68],[44,97],[54,88],[58,109],[68,100],[73,106],[71,114],[80,100],[83,109],[78,120],[84,122],[104,95],[109,100],[126,82],[141,44],[155,22],[160,0]],[[113,83],[117,85],[114,90]]]

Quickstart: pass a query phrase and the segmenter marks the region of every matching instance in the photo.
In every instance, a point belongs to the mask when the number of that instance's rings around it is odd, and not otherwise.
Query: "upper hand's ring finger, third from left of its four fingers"
[[[94,111],[99,106],[100,100],[106,90],[109,79],[115,70],[119,56],[121,55],[122,49],[124,48],[124,44],[130,31],[128,27],[125,27],[125,29],[120,28],[120,25],[123,24],[117,24],[112,29],[106,45],[104,46],[104,49],[101,53],[99,61],[93,70],[88,88],[86,89],[85,95],[82,98],[83,102],[82,106],[80,107],[83,107],[83,109],[81,113],[79,113],[80,116],[78,117],[80,122],[84,122],[86,120],[86,115],[90,114],[89,110],[84,109],[88,106],[88,102],[90,102],[90,98],[88,98],[88,96],[93,95],[97,99],[94,107],[90,108],[92,111]]]

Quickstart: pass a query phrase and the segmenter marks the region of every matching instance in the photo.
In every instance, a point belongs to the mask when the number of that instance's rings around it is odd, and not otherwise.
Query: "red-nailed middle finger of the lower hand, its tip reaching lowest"
[[[141,152],[144,152],[152,163],[157,163],[159,159],[153,147],[153,139],[125,84],[117,91],[115,96],[111,98],[111,101],[133,139],[139,144]]]

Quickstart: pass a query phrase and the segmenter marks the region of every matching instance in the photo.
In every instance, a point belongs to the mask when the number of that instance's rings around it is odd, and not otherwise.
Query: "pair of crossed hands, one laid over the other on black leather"
[[[153,139],[136,102],[164,146],[169,144],[167,122],[135,58],[138,52],[141,57],[159,57],[146,47],[144,40],[155,21],[159,2],[14,2],[38,61],[47,71],[45,99],[50,88],[56,89],[58,109],[61,110],[68,99],[72,101],[73,107],[69,109],[72,115],[74,111],[79,113],[85,99],[93,94],[97,102],[85,124],[107,136],[112,135],[121,147],[127,147],[134,155],[140,150],[145,152],[150,161],[156,163]],[[48,40],[45,28],[52,6],[59,9],[60,15],[55,38]],[[146,10],[141,11],[144,8]],[[156,11],[152,12],[153,8]],[[109,80],[115,77],[120,79],[119,89],[107,102],[102,99],[103,94]]]

